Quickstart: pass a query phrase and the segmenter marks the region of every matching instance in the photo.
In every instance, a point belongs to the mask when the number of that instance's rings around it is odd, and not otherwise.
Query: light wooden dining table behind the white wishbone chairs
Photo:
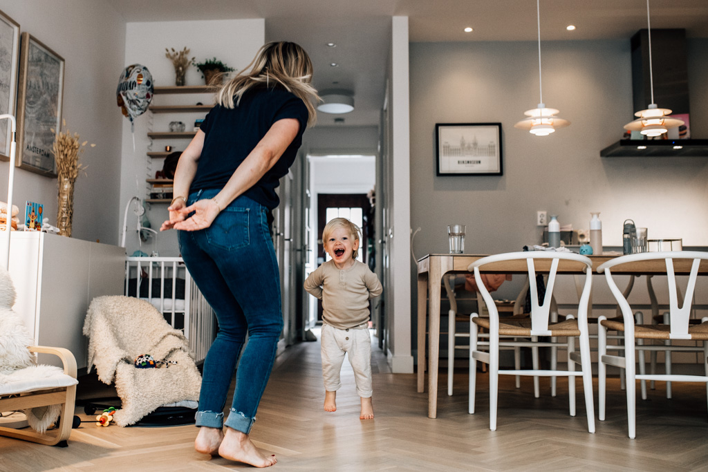
[[[428,418],[438,415],[438,357],[440,355],[440,294],[442,276],[468,272],[467,267],[486,255],[481,254],[428,254],[417,260],[418,264],[418,393],[425,391],[426,324],[428,333]],[[593,272],[608,260],[619,255],[590,255]],[[675,260],[677,275],[690,273],[692,260]],[[536,270],[547,272],[550,260],[536,260]],[[582,275],[585,265],[567,261],[558,268],[559,274]],[[485,265],[481,272],[499,274],[528,274],[525,260],[506,260]],[[663,260],[642,260],[612,268],[616,275],[666,275]],[[708,275],[708,261],[703,260],[699,275]],[[428,323],[426,323],[428,321]]]

